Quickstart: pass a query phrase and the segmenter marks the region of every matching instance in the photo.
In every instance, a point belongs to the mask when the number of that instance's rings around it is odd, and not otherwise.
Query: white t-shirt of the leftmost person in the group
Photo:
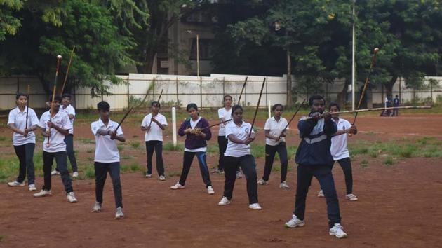
[[[39,124],[39,118],[37,118],[34,109],[30,109],[27,106],[23,112],[20,112],[20,109],[16,107],[15,109],[11,109],[9,111],[8,125],[14,124],[15,128],[25,131],[26,128],[26,112],[29,110],[29,114],[27,115],[27,128],[31,128],[33,125]],[[35,144],[35,134],[34,132],[29,132],[27,137],[19,134],[18,132],[14,132],[13,135],[13,145],[21,146],[28,143]]]

